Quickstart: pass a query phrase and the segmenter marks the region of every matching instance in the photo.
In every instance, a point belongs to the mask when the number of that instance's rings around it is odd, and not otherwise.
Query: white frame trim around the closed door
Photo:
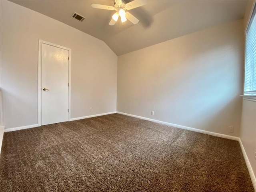
[[[68,50],[68,121],[70,121],[70,96],[71,96],[71,49],[57,44],[38,39],[38,126],[42,125],[42,44]]]

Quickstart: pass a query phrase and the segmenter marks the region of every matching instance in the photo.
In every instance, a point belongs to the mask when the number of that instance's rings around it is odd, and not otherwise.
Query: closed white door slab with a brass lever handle
[[[42,43],[42,125],[68,121],[68,50]]]

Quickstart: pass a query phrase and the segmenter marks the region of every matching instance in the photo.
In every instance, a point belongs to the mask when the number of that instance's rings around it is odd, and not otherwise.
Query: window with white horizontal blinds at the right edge
[[[246,30],[244,95],[256,96],[256,16],[255,8]]]

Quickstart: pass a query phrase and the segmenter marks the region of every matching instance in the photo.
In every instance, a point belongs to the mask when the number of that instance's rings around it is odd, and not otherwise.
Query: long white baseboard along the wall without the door
[[[140,118],[140,119],[144,119],[144,120],[148,120],[148,121],[152,121],[152,122],[156,122],[156,123],[161,123],[161,124],[164,124],[164,125],[170,125],[170,126],[181,128],[181,129],[186,129],[186,130],[195,131],[195,132],[199,132],[199,133],[204,133],[204,134],[208,134],[208,135],[212,135],[212,136],[222,137],[222,138],[226,138],[226,139],[232,139],[232,140],[236,140],[236,141],[238,141],[240,139],[239,137],[234,137],[234,136],[230,136],[230,135],[210,132],[210,131],[196,129],[196,128],[182,126],[182,125],[177,125],[177,124],[173,124],[173,123],[168,123],[168,122],[159,121],[159,120],[155,120],[155,119],[150,119],[150,118],[146,118],[146,117],[141,117],[141,116],[136,116],[136,115],[132,115],[132,114],[122,113],[122,112],[118,112],[118,111],[116,113],[131,116],[131,117],[136,117],[136,118]]]

